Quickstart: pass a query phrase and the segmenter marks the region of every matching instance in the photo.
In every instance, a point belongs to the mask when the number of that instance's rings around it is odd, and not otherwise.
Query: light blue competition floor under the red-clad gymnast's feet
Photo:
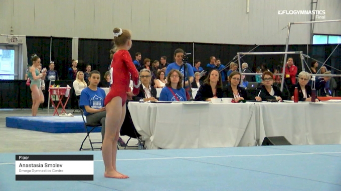
[[[94,181],[15,181],[15,154],[0,154],[0,190],[341,190],[341,145],[119,150],[118,170],[103,177],[94,154]],[[38,154],[38,153],[31,153]]]

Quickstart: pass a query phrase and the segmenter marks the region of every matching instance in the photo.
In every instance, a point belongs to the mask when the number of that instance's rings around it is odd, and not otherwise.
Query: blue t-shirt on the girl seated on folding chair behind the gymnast
[[[97,90],[94,91],[89,87],[86,87],[81,92],[79,106],[83,108],[84,115],[86,116],[92,113],[89,113],[85,110],[85,105],[88,105],[94,109],[100,109],[104,107],[104,99],[105,99],[104,89],[97,87]]]

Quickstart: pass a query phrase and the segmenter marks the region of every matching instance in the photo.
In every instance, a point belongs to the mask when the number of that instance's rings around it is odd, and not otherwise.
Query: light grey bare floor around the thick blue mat
[[[40,109],[38,116],[52,116],[54,109]],[[72,110],[67,110],[72,113]],[[80,113],[74,113],[80,115]],[[6,127],[7,116],[31,116],[31,109],[0,109],[0,152],[55,152],[78,151],[86,133],[48,133]],[[92,141],[100,141],[101,133],[91,133]],[[128,136],[121,136],[124,141]],[[129,146],[135,146],[137,140],[132,138]],[[85,147],[90,147],[89,141]],[[120,148],[123,149],[123,148]],[[130,149],[137,149],[131,147]]]

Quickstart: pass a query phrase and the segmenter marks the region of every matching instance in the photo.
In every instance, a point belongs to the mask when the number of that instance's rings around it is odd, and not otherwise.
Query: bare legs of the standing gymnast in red
[[[113,178],[127,178],[128,176],[120,174],[113,168],[112,162],[112,156],[116,155],[116,153],[114,154],[113,151],[117,151],[117,139],[115,136],[117,129],[119,129],[122,116],[122,98],[119,96],[112,98],[109,103],[107,103],[105,108],[107,113],[105,117],[105,134],[102,143],[102,156],[105,166],[104,176]]]

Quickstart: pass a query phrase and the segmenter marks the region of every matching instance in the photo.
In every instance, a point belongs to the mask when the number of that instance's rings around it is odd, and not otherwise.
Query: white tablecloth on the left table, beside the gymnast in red
[[[256,144],[254,103],[139,103],[128,109],[148,149]]]

